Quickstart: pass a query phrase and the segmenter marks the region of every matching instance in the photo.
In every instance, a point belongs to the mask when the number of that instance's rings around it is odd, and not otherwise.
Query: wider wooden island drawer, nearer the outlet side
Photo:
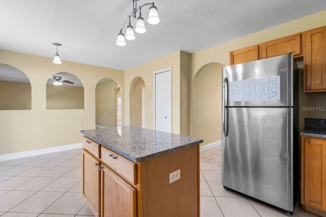
[[[137,163],[101,146],[101,161],[130,183],[137,184]]]

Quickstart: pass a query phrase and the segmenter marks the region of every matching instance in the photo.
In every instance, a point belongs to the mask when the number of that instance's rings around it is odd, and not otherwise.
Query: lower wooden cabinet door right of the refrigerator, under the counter
[[[304,138],[304,203],[326,210],[326,140]]]

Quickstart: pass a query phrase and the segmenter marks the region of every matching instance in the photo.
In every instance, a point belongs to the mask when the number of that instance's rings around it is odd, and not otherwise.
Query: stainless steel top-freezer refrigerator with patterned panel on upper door
[[[296,68],[290,53],[222,70],[222,184],[287,213],[300,164]]]

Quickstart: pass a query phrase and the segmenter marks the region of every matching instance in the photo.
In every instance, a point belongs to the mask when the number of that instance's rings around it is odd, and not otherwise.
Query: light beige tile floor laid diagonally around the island
[[[200,153],[201,217],[288,216],[225,190],[221,154],[221,146]],[[81,149],[0,162],[0,216],[93,216],[82,184]],[[299,204],[293,216],[314,216]]]

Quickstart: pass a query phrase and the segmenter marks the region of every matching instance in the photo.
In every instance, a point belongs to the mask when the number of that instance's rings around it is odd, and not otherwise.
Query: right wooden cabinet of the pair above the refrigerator
[[[259,59],[293,53],[302,56],[301,33],[268,41],[259,45]]]

